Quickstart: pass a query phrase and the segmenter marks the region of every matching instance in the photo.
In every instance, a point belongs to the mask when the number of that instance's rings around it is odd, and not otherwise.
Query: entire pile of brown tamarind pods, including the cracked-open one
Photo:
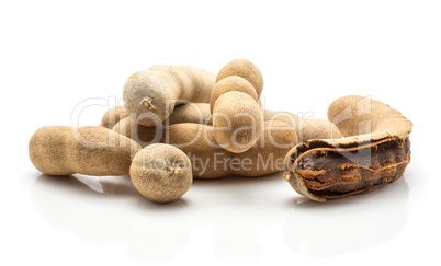
[[[328,120],[263,109],[263,77],[236,59],[217,76],[188,66],[152,66],[124,85],[124,105],[100,126],[39,128],[29,144],[49,175],[129,175],[146,198],[180,198],[193,178],[262,176],[284,170],[316,201],[373,190],[403,175],[412,124],[398,111],[343,96]]]

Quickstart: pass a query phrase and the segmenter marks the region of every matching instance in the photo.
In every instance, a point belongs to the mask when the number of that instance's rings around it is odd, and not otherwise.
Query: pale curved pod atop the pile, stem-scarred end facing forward
[[[154,66],[127,79],[125,107],[140,125],[157,126],[180,101],[208,103],[215,79],[213,73],[188,66]]]

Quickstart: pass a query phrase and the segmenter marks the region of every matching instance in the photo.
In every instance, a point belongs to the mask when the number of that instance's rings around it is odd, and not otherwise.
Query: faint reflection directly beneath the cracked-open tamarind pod
[[[297,197],[290,203],[285,240],[294,252],[320,257],[374,246],[404,229],[408,196],[402,177],[377,190],[325,204]]]

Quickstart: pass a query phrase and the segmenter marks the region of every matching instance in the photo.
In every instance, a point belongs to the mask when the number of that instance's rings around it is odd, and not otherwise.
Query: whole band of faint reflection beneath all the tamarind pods
[[[202,229],[210,233],[202,238],[206,243],[197,245],[208,246],[216,262],[257,263],[264,253],[257,236],[267,225],[282,224],[280,238],[274,239],[285,243],[278,245],[329,257],[374,246],[406,224],[404,178],[366,195],[325,204],[305,200],[287,186],[281,173],[195,181],[183,198],[155,204],[137,193],[128,176],[43,174],[32,187],[32,201],[54,228],[89,243],[126,244],[128,258],[143,263],[173,259]]]

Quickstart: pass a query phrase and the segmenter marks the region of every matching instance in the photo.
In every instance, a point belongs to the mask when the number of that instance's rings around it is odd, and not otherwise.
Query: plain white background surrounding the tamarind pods
[[[1,1],[0,264],[376,265],[440,263],[440,1]],[[414,122],[404,177],[305,201],[281,173],[195,181],[157,205],[127,176],[42,175],[27,142],[84,100],[122,96],[156,63],[216,73],[246,58],[270,109],[326,118],[347,94]],[[99,101],[99,102],[100,102]],[[99,125],[93,105],[80,126]]]

